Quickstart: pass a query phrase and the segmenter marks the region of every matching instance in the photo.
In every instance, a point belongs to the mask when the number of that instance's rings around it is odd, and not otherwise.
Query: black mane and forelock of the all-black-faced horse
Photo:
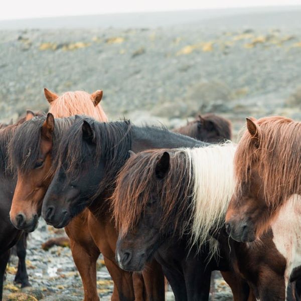
[[[54,166],[62,166],[69,178],[78,177],[78,167],[85,162],[91,148],[83,139],[82,124],[87,121],[94,130],[96,149],[93,150],[94,164],[105,159],[105,176],[99,183],[97,191],[91,198],[96,197],[108,184],[115,179],[116,174],[128,159],[131,148],[131,123],[128,120],[115,122],[98,122],[90,117],[76,116],[76,120],[63,136],[59,147],[57,162]]]

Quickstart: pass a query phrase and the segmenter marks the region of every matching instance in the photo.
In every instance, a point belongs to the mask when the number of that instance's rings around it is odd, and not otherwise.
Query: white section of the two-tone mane
[[[192,243],[201,246],[210,241],[209,232],[225,222],[225,214],[234,192],[233,159],[236,144],[226,142],[199,148],[186,148],[193,187]]]

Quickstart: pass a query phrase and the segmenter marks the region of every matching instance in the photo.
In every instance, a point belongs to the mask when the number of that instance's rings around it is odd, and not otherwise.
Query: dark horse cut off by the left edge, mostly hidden
[[[16,181],[14,172],[9,167],[8,144],[18,127],[34,116],[35,113],[27,111],[25,117],[20,118],[14,124],[2,126],[0,129],[0,194],[2,197],[0,202],[0,299],[2,299],[4,274],[11,253],[10,249],[14,246],[19,257],[15,282],[21,283],[22,287],[30,286],[26,269],[27,234],[16,229],[9,218]]]

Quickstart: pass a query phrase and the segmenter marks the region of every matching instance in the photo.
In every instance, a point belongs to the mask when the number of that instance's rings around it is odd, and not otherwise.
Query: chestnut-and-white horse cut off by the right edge
[[[235,193],[226,215],[227,232],[234,240],[274,249],[273,260],[262,266],[261,274],[273,279],[269,289],[279,299],[289,280],[300,276],[301,207],[300,197],[292,196],[301,188],[300,138],[300,122],[280,116],[247,118],[234,160]]]

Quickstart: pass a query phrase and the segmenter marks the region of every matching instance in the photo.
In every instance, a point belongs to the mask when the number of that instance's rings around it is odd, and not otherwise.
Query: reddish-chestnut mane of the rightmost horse
[[[246,130],[237,147],[235,193],[241,194],[242,184],[249,183],[249,170],[257,163],[265,201],[276,211],[292,194],[301,192],[301,122],[272,116],[256,123],[257,145]]]

